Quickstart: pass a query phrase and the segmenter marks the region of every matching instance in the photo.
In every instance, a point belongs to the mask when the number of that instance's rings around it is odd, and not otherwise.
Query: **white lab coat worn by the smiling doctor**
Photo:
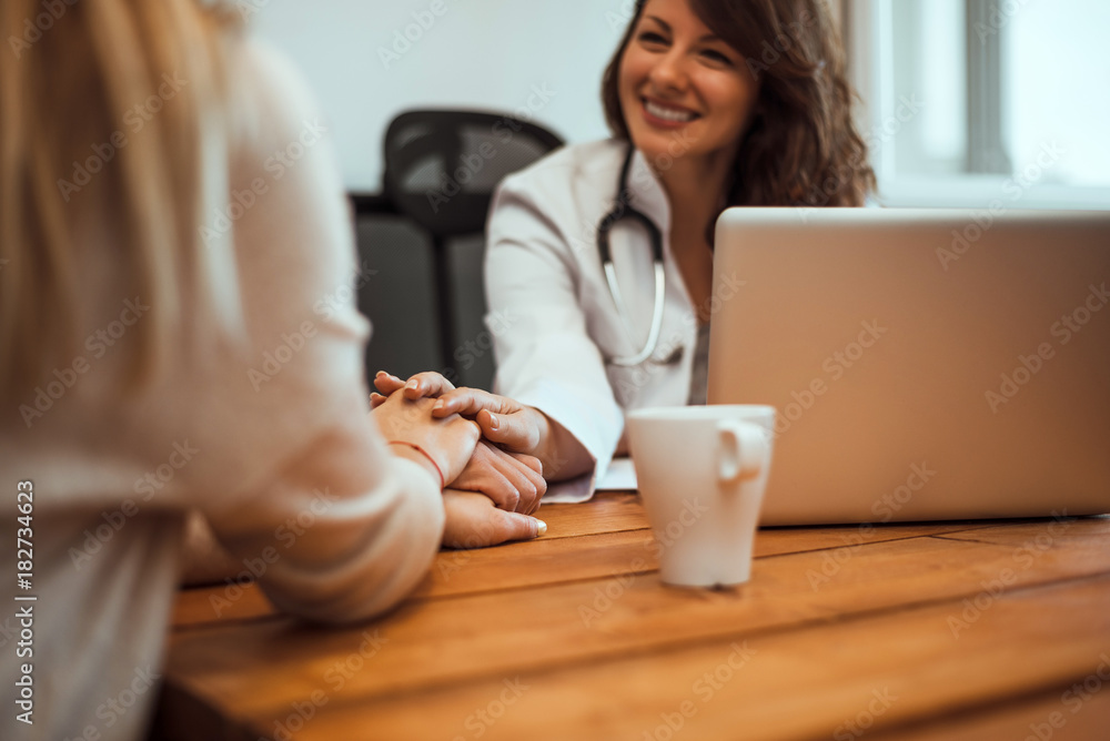
[[[506,177],[493,201],[485,280],[494,390],[541,409],[596,461],[593,474],[548,488],[545,501],[593,495],[626,412],[680,406],[689,397],[697,318],[670,251],[669,203],[639,152],[628,175],[632,204],[659,227],[667,275],[653,361],[672,362],[632,368],[607,362],[644,347],[655,297],[652,246],[640,226],[624,220],[609,240],[630,327],[620,321],[597,251],[597,225],[614,206],[627,146],[616,140],[567,146]]]

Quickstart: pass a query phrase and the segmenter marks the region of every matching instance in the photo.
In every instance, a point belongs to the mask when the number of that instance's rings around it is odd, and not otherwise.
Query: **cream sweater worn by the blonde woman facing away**
[[[183,361],[148,397],[115,400],[144,297],[125,295],[115,277],[113,225],[83,224],[87,352],[41,397],[0,410],[4,739],[142,737],[191,509],[275,605],[319,621],[390,609],[440,545],[438,481],[391,456],[370,416],[370,327],[355,308],[353,235],[329,126],[273,51],[243,41],[229,64],[245,128],[233,139],[224,229],[205,238],[234,252],[250,353]],[[95,203],[98,187],[72,199]],[[16,586],[22,480],[33,486],[29,591]],[[38,599],[17,603],[12,593]],[[24,608],[33,646],[18,654]],[[14,718],[24,663],[33,725]]]

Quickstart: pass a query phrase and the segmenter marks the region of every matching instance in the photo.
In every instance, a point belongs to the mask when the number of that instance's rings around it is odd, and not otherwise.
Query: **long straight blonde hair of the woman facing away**
[[[228,200],[231,21],[196,0],[4,0],[0,399],[82,352],[90,214],[110,230],[122,285],[150,306],[129,331],[127,392],[160,375],[193,318],[235,319],[232,251],[200,237]],[[92,179],[107,194],[95,201],[81,192]]]

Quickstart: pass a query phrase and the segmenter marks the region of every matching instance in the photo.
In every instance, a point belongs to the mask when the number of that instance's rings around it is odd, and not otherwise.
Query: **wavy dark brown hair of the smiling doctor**
[[[861,206],[875,190],[867,145],[852,123],[854,93],[840,34],[825,0],[689,0],[706,27],[759,81],[751,124],[736,156],[729,206]],[[636,3],[605,70],[609,129],[628,139],[618,78],[644,11]]]

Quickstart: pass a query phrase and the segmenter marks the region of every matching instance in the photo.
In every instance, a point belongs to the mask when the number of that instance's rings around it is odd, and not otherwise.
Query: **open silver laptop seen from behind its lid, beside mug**
[[[714,286],[763,525],[1110,512],[1110,212],[733,209]]]

